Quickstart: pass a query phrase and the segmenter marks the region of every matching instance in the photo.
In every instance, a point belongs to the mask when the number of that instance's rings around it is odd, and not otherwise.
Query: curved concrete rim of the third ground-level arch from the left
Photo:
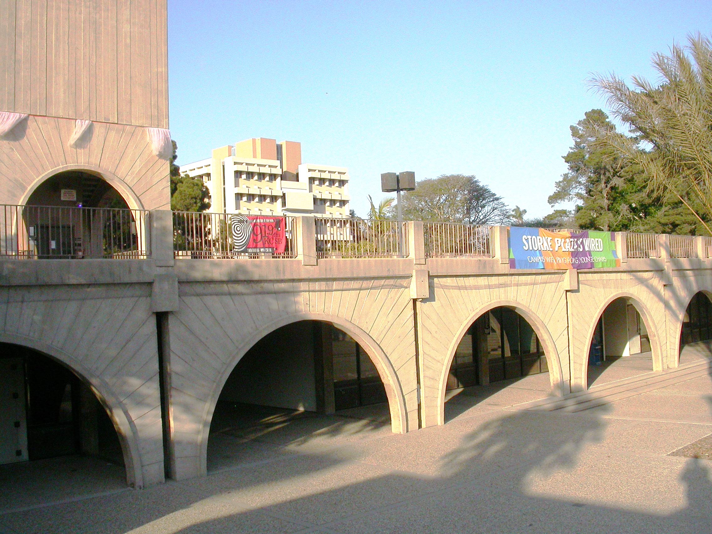
[[[523,305],[516,300],[493,300],[486,305],[478,308],[474,313],[471,313],[465,322],[461,325],[457,331],[454,340],[451,342],[448,349],[448,357],[445,360],[445,365],[441,371],[439,385],[438,385],[438,398],[439,398],[439,408],[438,408],[438,423],[445,424],[445,388],[447,385],[447,376],[450,371],[450,366],[452,365],[452,360],[455,357],[455,351],[460,341],[464,337],[468,328],[471,327],[481,315],[488,313],[494,308],[500,308],[501,306],[506,306],[508,308],[513,308],[515,312],[521,315],[533,328],[535,334],[539,338],[542,346],[544,348],[544,356],[546,357],[546,362],[549,367],[549,378],[551,382],[551,390],[557,395],[562,395],[565,393],[564,387],[564,377],[561,369],[561,360],[559,358],[559,352],[556,350],[556,344],[554,338],[549,332],[543,320],[528,306]]]

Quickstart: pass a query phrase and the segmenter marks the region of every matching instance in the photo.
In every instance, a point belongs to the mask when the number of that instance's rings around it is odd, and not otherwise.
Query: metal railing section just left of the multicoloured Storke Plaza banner
[[[492,226],[423,223],[426,258],[492,257]]]

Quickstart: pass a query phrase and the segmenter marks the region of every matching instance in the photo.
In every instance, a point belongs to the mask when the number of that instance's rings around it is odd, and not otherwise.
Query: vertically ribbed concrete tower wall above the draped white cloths
[[[165,0],[0,2],[0,111],[168,127]]]

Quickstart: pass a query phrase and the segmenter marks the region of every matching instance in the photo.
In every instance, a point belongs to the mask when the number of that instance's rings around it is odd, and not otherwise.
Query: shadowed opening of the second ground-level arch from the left
[[[296,446],[389,429],[390,410],[379,369],[359,342],[327,321],[288,323],[256,342],[227,377],[206,467],[234,464],[255,439]]]

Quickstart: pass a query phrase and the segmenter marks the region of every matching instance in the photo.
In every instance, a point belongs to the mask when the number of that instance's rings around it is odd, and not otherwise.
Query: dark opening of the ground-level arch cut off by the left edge
[[[37,350],[0,343],[0,480],[27,506],[124,488],[125,446],[93,389]],[[11,502],[6,503],[11,507]]]

